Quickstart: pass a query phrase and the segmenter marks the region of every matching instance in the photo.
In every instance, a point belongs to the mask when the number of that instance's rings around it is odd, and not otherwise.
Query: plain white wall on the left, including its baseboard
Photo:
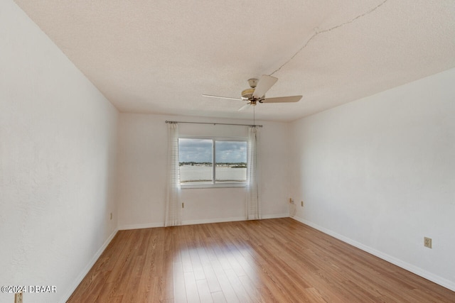
[[[0,49],[0,285],[64,302],[116,231],[117,110],[13,1]]]

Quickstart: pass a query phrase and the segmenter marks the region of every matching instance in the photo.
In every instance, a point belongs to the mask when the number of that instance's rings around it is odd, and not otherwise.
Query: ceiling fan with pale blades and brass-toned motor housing
[[[232,99],[232,100],[243,100],[248,101],[247,104],[242,106],[239,111],[246,109],[249,106],[255,106],[257,102],[259,103],[284,103],[284,102],[297,102],[301,99],[301,96],[289,96],[289,97],[276,97],[276,98],[266,98],[265,93],[278,81],[278,78],[262,75],[261,79],[248,79],[250,84],[249,89],[244,89],[242,91],[242,98],[231,98],[231,97],[221,97],[213,96],[211,94],[203,94],[203,97],[210,98],[220,98],[220,99]]]

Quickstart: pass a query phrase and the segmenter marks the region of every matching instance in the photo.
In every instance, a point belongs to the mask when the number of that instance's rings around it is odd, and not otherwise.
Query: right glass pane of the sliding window
[[[247,181],[247,143],[245,141],[215,142],[216,182]]]

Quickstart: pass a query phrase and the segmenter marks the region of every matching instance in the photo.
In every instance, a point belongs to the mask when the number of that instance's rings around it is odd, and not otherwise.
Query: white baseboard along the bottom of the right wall
[[[355,246],[356,248],[360,248],[361,250],[366,251],[367,253],[371,253],[372,255],[375,255],[378,258],[381,258],[382,260],[386,260],[389,263],[392,263],[394,265],[399,266],[400,268],[404,268],[405,270],[408,270],[410,272],[413,272],[416,275],[419,275],[420,277],[424,277],[427,280],[430,280],[438,285],[441,285],[443,287],[448,288],[449,290],[455,291],[455,282],[452,282],[450,280],[444,279],[443,277],[439,277],[438,275],[434,275],[432,272],[427,272],[426,270],[422,270],[422,268],[419,268],[415,265],[412,265],[410,263],[406,263],[400,259],[397,259],[395,257],[392,257],[391,255],[387,255],[386,253],[382,253],[379,250],[376,250],[374,248],[370,248],[370,246],[365,246],[362,243],[359,243],[357,241],[354,241],[346,236],[342,236],[334,231],[331,231],[330,229],[324,228],[322,226],[319,226],[317,224],[314,224],[311,221],[307,221],[305,219],[301,219],[298,216],[293,216],[291,219],[294,219],[296,221],[299,221],[303,224],[306,224],[308,226],[311,226],[312,228],[317,229],[318,231],[322,231],[323,233],[328,234],[329,236],[333,236],[333,238],[337,238],[338,240],[341,240],[343,242],[346,242],[352,246]]]

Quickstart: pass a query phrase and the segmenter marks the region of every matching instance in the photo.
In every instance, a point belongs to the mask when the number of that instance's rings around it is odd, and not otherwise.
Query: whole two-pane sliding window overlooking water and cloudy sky
[[[179,138],[182,187],[238,187],[247,181],[247,141],[239,138]]]

